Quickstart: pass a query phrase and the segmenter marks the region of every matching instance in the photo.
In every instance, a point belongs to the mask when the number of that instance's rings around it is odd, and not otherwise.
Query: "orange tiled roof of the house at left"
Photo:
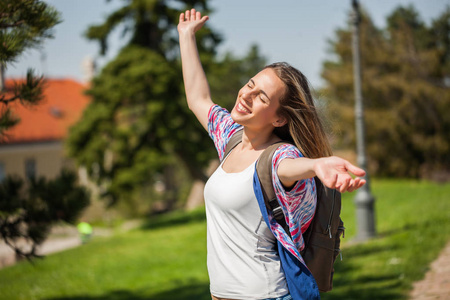
[[[15,80],[21,82],[23,80]],[[14,85],[6,81],[6,88]],[[8,105],[20,122],[6,132],[2,143],[62,140],[89,103],[86,86],[72,79],[46,79],[44,99],[36,106],[24,107],[17,101]],[[3,109],[4,104],[0,104]]]

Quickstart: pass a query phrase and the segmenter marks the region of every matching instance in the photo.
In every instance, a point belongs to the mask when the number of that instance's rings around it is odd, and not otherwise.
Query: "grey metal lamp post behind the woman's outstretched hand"
[[[353,74],[355,85],[355,125],[356,151],[358,165],[366,170],[366,184],[355,196],[357,236],[359,241],[365,241],[375,236],[375,198],[370,193],[369,175],[365,150],[364,106],[361,91],[361,61],[359,49],[359,24],[361,21],[357,0],[352,0],[353,6]]]

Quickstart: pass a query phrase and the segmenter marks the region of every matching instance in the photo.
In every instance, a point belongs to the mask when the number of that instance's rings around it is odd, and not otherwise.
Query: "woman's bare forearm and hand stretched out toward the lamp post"
[[[317,176],[325,186],[337,189],[341,193],[352,192],[366,183],[365,179],[360,178],[366,174],[363,169],[337,156],[284,159],[278,166],[277,174],[287,187],[298,180]],[[350,174],[359,177],[353,178]]]

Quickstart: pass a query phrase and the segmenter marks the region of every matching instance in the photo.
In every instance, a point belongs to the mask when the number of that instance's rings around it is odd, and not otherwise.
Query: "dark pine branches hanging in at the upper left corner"
[[[3,77],[9,63],[52,37],[51,30],[59,23],[59,13],[37,0],[4,0],[0,2],[0,12],[0,77]],[[9,90],[0,86],[0,141],[5,138],[5,131],[19,122],[8,105],[14,101],[22,105],[38,104],[42,100],[43,84],[43,77],[36,77],[30,69],[25,82]]]

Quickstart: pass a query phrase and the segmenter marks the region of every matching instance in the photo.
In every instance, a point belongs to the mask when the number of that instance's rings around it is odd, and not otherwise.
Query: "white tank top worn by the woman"
[[[211,293],[229,299],[288,293],[275,245],[253,192],[255,163],[239,173],[222,164],[205,186],[207,265]]]

